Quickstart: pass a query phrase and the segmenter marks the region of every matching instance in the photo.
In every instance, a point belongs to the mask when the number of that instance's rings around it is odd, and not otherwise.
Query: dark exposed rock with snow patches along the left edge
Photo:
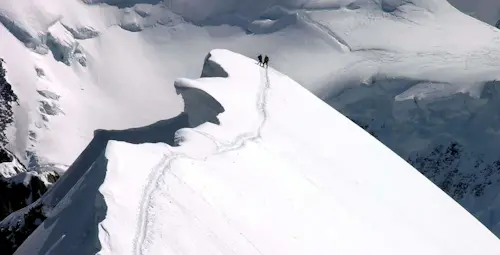
[[[39,75],[44,75],[37,70]],[[45,219],[42,207],[33,204],[54,184],[59,175],[56,172],[28,171],[26,167],[8,150],[5,131],[14,121],[13,104],[18,98],[12,86],[7,82],[3,61],[0,59],[0,164],[7,170],[7,175],[0,173],[0,220],[11,213],[27,208],[23,222],[17,225],[0,227],[0,254],[12,254],[33,230]],[[48,91],[40,91],[42,96],[57,100],[58,96]],[[41,111],[54,115],[59,112],[56,104],[42,104]],[[34,133],[30,134],[34,137]],[[34,137],[36,138],[36,137]],[[24,210],[24,209],[23,209]]]

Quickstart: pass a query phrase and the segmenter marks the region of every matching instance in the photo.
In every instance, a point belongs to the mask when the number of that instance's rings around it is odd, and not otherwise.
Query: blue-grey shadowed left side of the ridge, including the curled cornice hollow
[[[183,89],[181,93],[186,105],[185,111],[172,119],[127,130],[97,130],[90,144],[43,198],[47,208],[57,206],[61,210],[58,211],[56,207],[52,215],[35,230],[16,254],[24,254],[24,249],[29,250],[31,245],[39,242],[40,240],[30,238],[39,238],[40,234],[46,237],[43,243],[39,244],[41,248],[37,254],[98,253],[102,248],[99,223],[107,214],[107,205],[99,187],[106,177],[108,162],[104,153],[108,141],[133,144],[167,143],[176,146],[174,138],[177,130],[205,122],[219,123],[217,115],[223,112],[224,108],[215,99],[195,88]],[[203,100],[200,101],[200,98]],[[68,232],[68,229],[74,231]],[[107,234],[106,229],[101,231]]]

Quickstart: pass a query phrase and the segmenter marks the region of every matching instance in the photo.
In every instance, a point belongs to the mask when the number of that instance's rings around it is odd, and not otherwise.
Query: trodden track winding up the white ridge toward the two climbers
[[[263,85],[261,85],[261,88],[259,89],[259,95],[258,99],[256,102],[256,107],[258,112],[260,113],[260,124],[257,128],[257,130],[253,132],[245,132],[240,135],[238,135],[233,141],[229,143],[224,143],[221,141],[218,141],[214,136],[207,134],[205,132],[198,131],[196,129],[192,129],[194,132],[197,132],[208,139],[210,139],[214,144],[216,145],[217,151],[213,154],[210,154],[208,156],[205,156],[204,158],[193,158],[185,153],[180,153],[180,152],[171,152],[171,153],[166,153],[163,155],[162,159],[160,162],[153,167],[151,170],[151,173],[148,176],[148,181],[147,184],[144,188],[143,192],[143,197],[141,200],[140,204],[140,211],[139,211],[139,219],[137,223],[137,230],[136,234],[133,240],[133,253],[136,255],[142,255],[145,254],[144,249],[145,245],[147,245],[149,242],[148,240],[148,229],[150,225],[150,210],[153,208],[151,205],[151,200],[153,197],[153,193],[158,189],[158,186],[160,185],[160,181],[162,178],[165,176],[168,170],[170,170],[171,165],[175,159],[178,158],[187,158],[191,160],[201,160],[201,161],[206,161],[209,157],[215,156],[215,155],[220,155],[229,151],[235,151],[240,148],[242,148],[246,142],[248,141],[255,141],[261,138],[261,132],[262,128],[264,127],[265,122],[267,121],[268,118],[268,113],[266,111],[266,104],[267,104],[267,92],[270,89],[270,80],[269,80],[269,73],[268,69],[261,69],[261,73],[264,72],[264,75],[261,74],[261,76],[264,76],[265,81],[261,82]],[[246,237],[245,239],[256,249],[256,251],[260,254],[260,251],[253,245],[253,243],[248,240]]]

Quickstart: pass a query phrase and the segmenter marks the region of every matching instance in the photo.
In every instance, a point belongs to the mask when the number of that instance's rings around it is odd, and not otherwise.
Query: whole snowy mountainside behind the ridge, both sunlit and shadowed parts
[[[65,170],[96,129],[178,116],[172,84],[198,77],[212,48],[265,53],[500,233],[497,97],[484,90],[500,34],[444,0],[17,0],[0,2],[0,23],[20,100],[10,146],[30,169]],[[466,149],[450,160],[455,138]]]

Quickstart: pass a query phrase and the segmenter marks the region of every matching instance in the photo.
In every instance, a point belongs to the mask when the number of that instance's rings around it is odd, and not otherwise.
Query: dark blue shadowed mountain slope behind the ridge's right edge
[[[429,98],[427,91],[450,85],[421,84],[411,100],[405,99],[410,91],[402,91],[401,83],[379,79],[329,102],[498,235],[498,82],[485,84],[478,98],[463,93]]]

